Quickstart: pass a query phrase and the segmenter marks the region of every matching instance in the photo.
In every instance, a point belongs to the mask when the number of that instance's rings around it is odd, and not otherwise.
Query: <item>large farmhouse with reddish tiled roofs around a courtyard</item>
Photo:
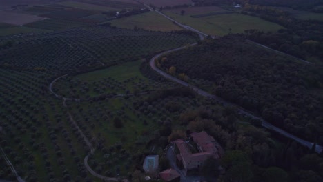
[[[190,136],[194,143],[189,143],[183,139],[173,141],[175,150],[179,152],[177,154],[177,162],[186,171],[199,168],[210,157],[219,159],[222,156],[223,150],[221,146],[206,132],[195,132],[190,134]],[[196,145],[198,151],[193,150],[193,145]]]

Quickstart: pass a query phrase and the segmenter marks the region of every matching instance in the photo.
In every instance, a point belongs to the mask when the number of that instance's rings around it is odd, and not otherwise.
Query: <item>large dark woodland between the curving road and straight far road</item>
[[[322,66],[302,63],[237,36],[169,54],[159,65],[285,130],[323,143]],[[212,88],[210,88],[212,87]]]

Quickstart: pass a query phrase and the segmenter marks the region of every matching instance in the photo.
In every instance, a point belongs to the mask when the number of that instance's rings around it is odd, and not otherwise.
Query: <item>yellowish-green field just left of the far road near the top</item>
[[[146,12],[131,17],[124,17],[110,21],[112,26],[119,28],[143,28],[144,30],[171,31],[181,30],[165,17],[156,12]]]

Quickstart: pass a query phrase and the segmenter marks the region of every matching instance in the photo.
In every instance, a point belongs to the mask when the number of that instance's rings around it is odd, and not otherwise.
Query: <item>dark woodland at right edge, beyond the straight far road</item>
[[[286,29],[277,32],[246,30],[246,36],[258,43],[292,54],[309,61],[323,61],[323,22],[317,20],[301,20],[293,14],[268,6],[244,6],[244,14],[259,16],[284,26]]]

